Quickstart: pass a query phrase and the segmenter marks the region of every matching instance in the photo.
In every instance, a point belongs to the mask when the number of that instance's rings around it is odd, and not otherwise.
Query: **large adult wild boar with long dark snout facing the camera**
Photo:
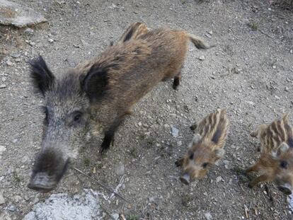
[[[123,43],[60,77],[42,57],[30,63],[33,83],[45,98],[44,134],[28,184],[31,189],[47,192],[56,187],[70,158],[78,154],[74,146],[84,143],[87,132],[103,132],[100,154],[107,150],[132,105],[160,81],[174,78],[177,88],[189,41],[198,49],[209,48],[184,30],[160,28],[137,34],[128,28],[122,36]]]

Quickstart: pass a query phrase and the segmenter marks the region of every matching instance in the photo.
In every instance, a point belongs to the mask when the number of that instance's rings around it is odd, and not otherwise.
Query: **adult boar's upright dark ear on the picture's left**
[[[45,95],[45,92],[48,91],[54,83],[54,75],[47,67],[42,56],[32,59],[30,61],[30,66],[30,77],[33,79],[33,84],[39,89],[42,95]]]

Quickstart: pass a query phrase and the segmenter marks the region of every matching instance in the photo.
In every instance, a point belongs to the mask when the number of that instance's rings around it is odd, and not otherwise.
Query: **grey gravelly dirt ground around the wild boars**
[[[284,112],[293,115],[292,11],[253,0],[16,2],[40,11],[49,24],[31,30],[0,26],[0,145],[6,148],[0,155],[5,199],[0,211],[6,219],[22,219],[52,193],[91,188],[109,195],[73,169],[48,194],[26,187],[43,118],[28,60],[42,54],[52,71],[62,74],[105,50],[136,21],[188,30],[217,47],[200,51],[190,45],[178,91],[166,81],[135,105],[103,161],[98,161],[100,142],[82,149],[76,168],[109,187],[124,180],[118,192],[127,202],[100,197],[104,219],[110,219],[108,213],[127,219],[247,219],[245,209],[248,219],[293,219],[287,197],[275,185],[267,184],[270,199],[266,184],[251,190],[237,172],[259,156],[251,130]],[[189,127],[218,107],[228,108],[231,122],[226,154],[204,179],[183,185],[174,162],[193,138]]]

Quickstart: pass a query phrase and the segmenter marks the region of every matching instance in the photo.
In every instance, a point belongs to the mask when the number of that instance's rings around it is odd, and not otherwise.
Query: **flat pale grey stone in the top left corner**
[[[14,25],[23,28],[43,22],[47,22],[47,19],[32,8],[11,1],[0,0],[0,23],[2,25]]]

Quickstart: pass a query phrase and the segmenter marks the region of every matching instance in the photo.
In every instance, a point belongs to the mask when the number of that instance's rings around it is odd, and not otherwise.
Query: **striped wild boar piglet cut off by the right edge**
[[[277,185],[293,184],[293,130],[288,115],[270,125],[259,125],[251,133],[260,140],[261,154],[258,161],[246,173],[259,171],[261,175],[249,184],[250,187],[263,181],[275,181]],[[282,167],[287,164],[286,168]],[[282,165],[283,164],[283,165]]]

